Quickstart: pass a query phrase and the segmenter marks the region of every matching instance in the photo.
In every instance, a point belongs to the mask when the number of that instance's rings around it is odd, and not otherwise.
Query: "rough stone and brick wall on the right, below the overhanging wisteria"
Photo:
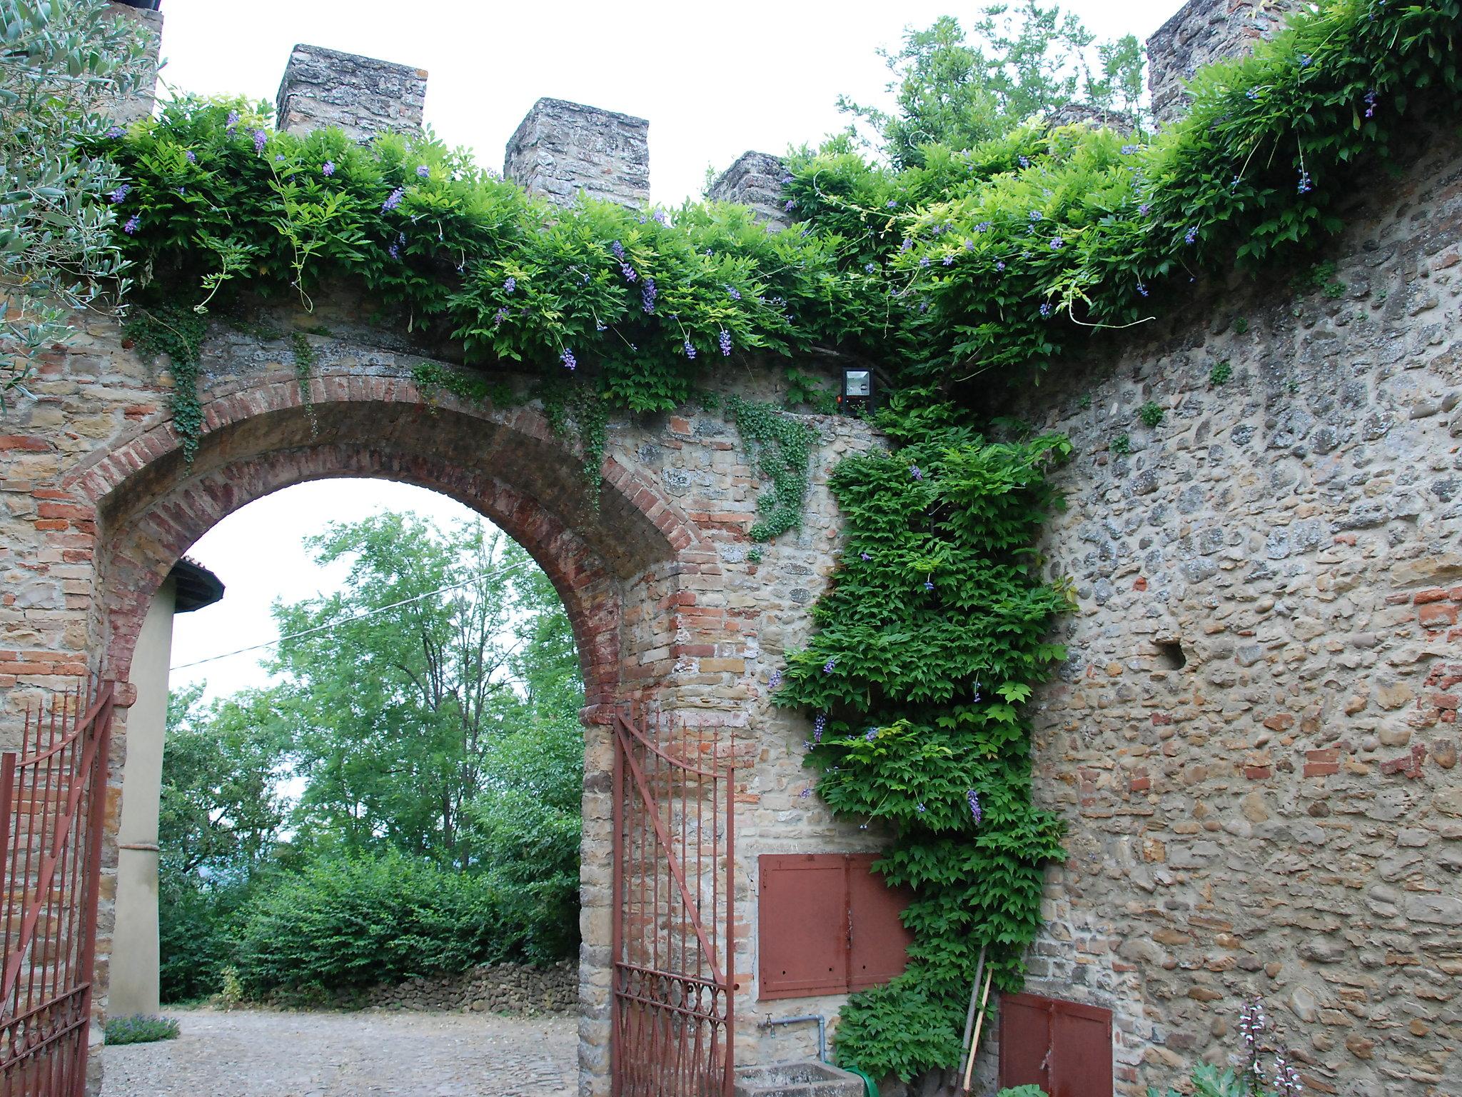
[[[1235,1055],[1250,995],[1308,1093],[1462,1094],[1459,165],[1363,189],[1333,278],[1165,303],[1196,319],[1023,408],[1076,443],[1045,550],[1080,606],[1028,989],[1116,1012],[1120,1094]]]

